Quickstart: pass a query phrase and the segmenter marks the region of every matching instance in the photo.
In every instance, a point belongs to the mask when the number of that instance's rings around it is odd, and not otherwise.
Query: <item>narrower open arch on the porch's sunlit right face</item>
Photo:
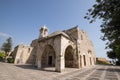
[[[74,67],[74,51],[72,46],[68,46],[65,50],[65,67]]]

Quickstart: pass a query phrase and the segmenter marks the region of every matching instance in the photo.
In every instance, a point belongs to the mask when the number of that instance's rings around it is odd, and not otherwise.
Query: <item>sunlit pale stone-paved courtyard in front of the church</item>
[[[80,70],[67,68],[58,73],[54,72],[54,68],[38,70],[31,65],[0,62],[0,80],[120,80],[120,67],[96,65]]]

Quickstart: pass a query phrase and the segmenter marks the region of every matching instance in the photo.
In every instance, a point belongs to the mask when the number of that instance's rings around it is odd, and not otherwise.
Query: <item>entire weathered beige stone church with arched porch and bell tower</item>
[[[88,34],[78,26],[56,31],[48,35],[48,28],[41,27],[38,39],[31,46],[18,45],[14,49],[14,64],[31,63],[38,68],[54,67],[62,72],[65,68],[94,66],[96,56]]]

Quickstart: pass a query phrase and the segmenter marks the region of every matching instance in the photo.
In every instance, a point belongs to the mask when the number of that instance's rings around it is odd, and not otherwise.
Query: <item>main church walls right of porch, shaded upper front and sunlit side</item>
[[[93,66],[96,62],[96,57],[94,46],[90,41],[88,34],[85,31],[80,30],[78,27],[65,30],[64,32],[70,36],[71,41],[73,41],[76,46],[76,62],[78,62],[76,64],[78,64],[78,67]]]

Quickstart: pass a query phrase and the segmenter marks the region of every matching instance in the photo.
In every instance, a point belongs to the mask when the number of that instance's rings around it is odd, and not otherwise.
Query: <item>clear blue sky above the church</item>
[[[0,47],[12,37],[13,49],[18,44],[30,45],[46,25],[49,34],[76,25],[88,33],[96,56],[107,57],[105,42],[100,39],[101,20],[90,24],[84,19],[95,0],[0,0]]]

